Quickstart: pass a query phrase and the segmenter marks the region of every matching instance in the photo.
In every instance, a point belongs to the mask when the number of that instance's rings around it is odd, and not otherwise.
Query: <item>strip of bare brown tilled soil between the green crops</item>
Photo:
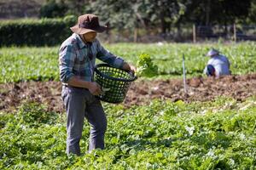
[[[131,84],[123,102],[131,105],[147,105],[152,99],[183,100],[185,102],[209,101],[218,96],[243,101],[256,95],[256,73],[243,76],[194,77],[186,80],[184,93],[182,79],[144,81]],[[19,82],[0,84],[0,111],[14,111],[26,101],[37,101],[49,111],[64,112],[61,100],[61,82]]]

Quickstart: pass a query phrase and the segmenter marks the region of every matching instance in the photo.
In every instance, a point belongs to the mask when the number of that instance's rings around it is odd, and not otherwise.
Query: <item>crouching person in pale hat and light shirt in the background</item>
[[[214,48],[208,51],[207,56],[211,57],[204,70],[208,77],[230,75],[230,61],[227,57],[219,54],[218,50]]]

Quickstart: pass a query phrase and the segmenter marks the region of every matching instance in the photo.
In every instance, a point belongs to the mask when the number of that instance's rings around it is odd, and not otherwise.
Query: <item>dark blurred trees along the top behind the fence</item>
[[[159,28],[166,33],[185,24],[203,26],[256,23],[256,0],[46,0],[41,18],[98,14],[116,29]]]

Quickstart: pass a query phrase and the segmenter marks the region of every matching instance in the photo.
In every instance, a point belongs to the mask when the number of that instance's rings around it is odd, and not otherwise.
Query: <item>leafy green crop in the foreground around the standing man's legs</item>
[[[106,150],[66,156],[65,114],[25,104],[0,116],[1,169],[254,169],[256,98],[185,104],[154,100],[125,109],[104,104]]]

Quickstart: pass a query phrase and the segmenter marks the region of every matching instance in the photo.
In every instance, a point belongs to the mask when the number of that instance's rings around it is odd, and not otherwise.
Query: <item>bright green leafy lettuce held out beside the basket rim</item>
[[[158,67],[154,65],[148,54],[140,54],[137,60],[137,77],[154,77],[158,74]]]

